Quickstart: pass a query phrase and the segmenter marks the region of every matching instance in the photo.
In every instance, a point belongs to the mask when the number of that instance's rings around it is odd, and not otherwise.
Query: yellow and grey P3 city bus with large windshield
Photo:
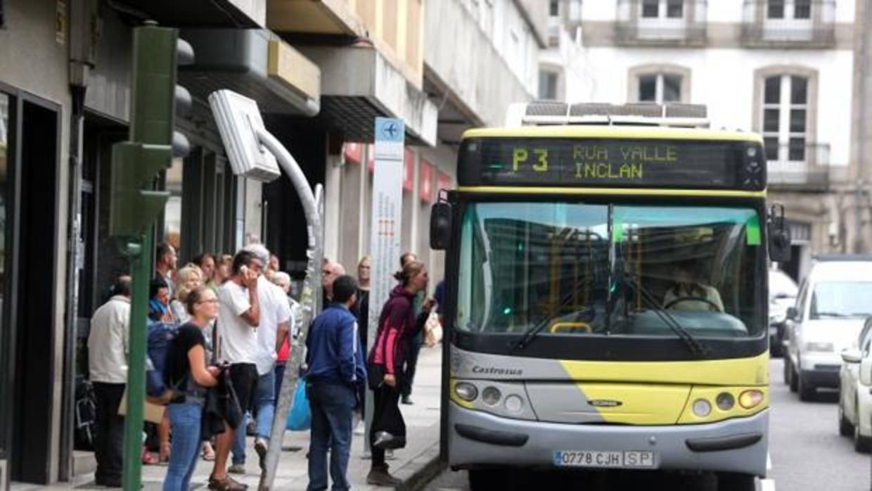
[[[446,249],[443,437],[476,489],[506,467],[766,475],[760,136],[705,108],[530,103],[467,131],[433,207]]]

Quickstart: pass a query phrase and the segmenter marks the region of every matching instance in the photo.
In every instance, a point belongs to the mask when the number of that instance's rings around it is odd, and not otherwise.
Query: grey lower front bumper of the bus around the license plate
[[[769,412],[704,425],[568,425],[470,411],[449,403],[454,468],[554,467],[559,451],[651,451],[652,469],[766,476]]]

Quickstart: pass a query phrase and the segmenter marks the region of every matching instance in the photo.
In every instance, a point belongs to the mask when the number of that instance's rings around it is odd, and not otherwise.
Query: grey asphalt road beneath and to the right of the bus
[[[783,365],[774,359],[769,450],[772,470],[760,482],[761,491],[869,490],[869,455],[855,453],[851,440],[839,436],[837,396],[821,392],[816,402],[800,402],[781,378]],[[716,491],[711,475],[627,473],[535,473],[513,476],[515,489],[673,489]],[[440,474],[427,491],[467,491],[466,472]]]

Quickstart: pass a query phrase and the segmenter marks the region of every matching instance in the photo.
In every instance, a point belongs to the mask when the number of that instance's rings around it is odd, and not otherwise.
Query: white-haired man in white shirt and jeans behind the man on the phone
[[[262,263],[269,263],[269,250],[263,244],[249,244],[243,248],[249,251]],[[257,278],[257,296],[261,307],[260,324],[257,326],[257,351],[255,365],[257,367],[257,388],[252,414],[255,416],[255,451],[260,457],[263,469],[264,459],[269,446],[269,433],[272,429],[273,415],[276,412],[276,351],[279,351],[288,338],[293,315],[288,297],[284,291],[271,283],[263,274]],[[241,426],[242,428],[245,425]],[[245,472],[245,432],[236,433],[233,447],[233,466],[230,472]]]

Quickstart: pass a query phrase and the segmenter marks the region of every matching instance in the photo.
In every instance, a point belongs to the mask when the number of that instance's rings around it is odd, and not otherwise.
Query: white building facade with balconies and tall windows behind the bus
[[[712,127],[762,134],[798,277],[813,254],[872,244],[857,218],[863,3],[613,0],[564,19],[582,30],[582,100],[705,104]]]

